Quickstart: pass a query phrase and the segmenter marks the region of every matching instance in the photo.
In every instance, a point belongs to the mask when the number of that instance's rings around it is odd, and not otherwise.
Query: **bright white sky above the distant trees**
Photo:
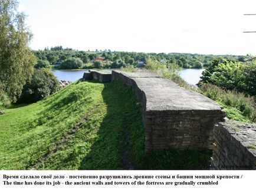
[[[19,0],[32,49],[256,55],[255,0]]]

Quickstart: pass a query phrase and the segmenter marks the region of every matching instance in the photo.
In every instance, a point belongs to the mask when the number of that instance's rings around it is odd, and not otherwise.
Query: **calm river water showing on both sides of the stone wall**
[[[204,69],[182,69],[179,71],[180,76],[191,85],[196,85],[199,82],[200,76]],[[83,77],[84,72],[88,72],[88,70],[54,70],[52,71],[55,76],[57,76],[58,80],[65,80],[74,82],[77,79]]]

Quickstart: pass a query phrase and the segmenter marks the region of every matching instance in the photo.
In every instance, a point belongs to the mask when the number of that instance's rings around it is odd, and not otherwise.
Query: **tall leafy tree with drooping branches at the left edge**
[[[0,0],[0,83],[12,102],[31,79],[36,62],[28,46],[32,34],[25,26],[25,15],[17,8],[15,0]]]

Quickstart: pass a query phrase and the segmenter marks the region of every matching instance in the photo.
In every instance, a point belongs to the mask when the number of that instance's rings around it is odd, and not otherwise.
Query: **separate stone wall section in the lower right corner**
[[[213,169],[256,169],[256,124],[234,120],[214,128]]]

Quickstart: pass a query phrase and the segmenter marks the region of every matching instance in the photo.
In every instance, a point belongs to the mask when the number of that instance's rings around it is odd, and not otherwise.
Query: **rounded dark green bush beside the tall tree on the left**
[[[58,91],[60,82],[47,69],[35,69],[32,79],[22,89],[18,103],[37,102]]]

